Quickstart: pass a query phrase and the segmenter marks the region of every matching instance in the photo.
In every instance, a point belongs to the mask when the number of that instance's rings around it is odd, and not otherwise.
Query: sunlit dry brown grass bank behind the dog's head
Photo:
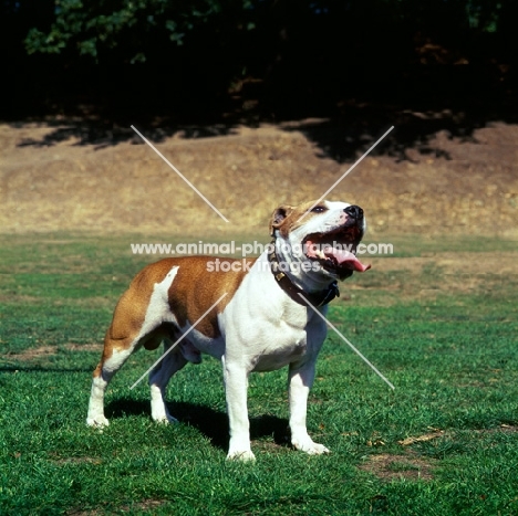
[[[23,146],[50,129],[0,125],[0,228],[3,232],[80,231],[236,234],[265,232],[281,202],[320,197],[351,164],[320,157],[297,124],[242,127],[230,136],[183,139],[157,148],[230,220],[225,223],[146,145],[103,149],[66,140]],[[480,143],[438,133],[450,159],[365,159],[329,196],[364,207],[372,234],[517,235],[518,126],[476,131]],[[412,150],[412,149],[410,149]]]

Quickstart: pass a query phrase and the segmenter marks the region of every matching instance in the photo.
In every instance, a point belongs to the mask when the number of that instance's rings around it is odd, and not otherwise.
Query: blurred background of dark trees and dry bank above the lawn
[[[4,0],[0,221],[220,228],[133,124],[262,228],[394,125],[331,197],[374,231],[514,234],[517,20],[514,0]]]

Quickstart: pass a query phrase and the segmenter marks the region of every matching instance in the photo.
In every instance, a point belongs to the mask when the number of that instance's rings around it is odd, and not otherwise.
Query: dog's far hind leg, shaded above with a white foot
[[[165,391],[170,377],[179,371],[187,360],[180,349],[169,351],[172,341],[164,339],[164,358],[149,373],[152,418],[160,423],[177,423],[178,421],[169,414],[165,403]]]

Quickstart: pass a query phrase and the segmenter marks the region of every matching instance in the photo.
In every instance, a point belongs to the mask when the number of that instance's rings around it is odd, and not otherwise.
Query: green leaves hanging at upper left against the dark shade
[[[56,0],[51,25],[31,28],[24,43],[29,54],[66,49],[96,62],[146,62],[207,27],[219,38],[224,31],[251,29],[253,23],[246,20],[252,18],[252,7],[234,0]]]

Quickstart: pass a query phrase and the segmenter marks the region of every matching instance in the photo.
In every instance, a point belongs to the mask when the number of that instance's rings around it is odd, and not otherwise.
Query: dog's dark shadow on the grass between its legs
[[[169,402],[167,406],[180,424],[196,428],[210,440],[214,446],[227,451],[229,428],[226,412],[184,401]],[[124,398],[110,402],[105,413],[108,419],[123,418],[124,415],[144,415],[151,419],[148,401]],[[250,418],[250,439],[257,440],[267,436],[272,436],[278,445],[290,446],[288,420],[271,414]]]

